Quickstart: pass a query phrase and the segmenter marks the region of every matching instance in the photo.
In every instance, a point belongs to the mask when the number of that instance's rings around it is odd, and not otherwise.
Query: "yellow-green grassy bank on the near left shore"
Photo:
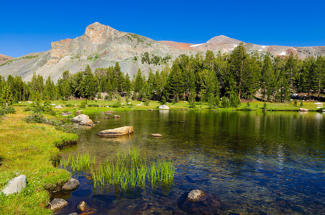
[[[0,123],[0,188],[20,174],[27,177],[27,187],[19,194],[0,196],[0,214],[51,214],[49,190],[70,179],[70,173],[57,169],[53,161],[58,146],[76,140],[51,125],[27,124],[26,114],[8,114]]]

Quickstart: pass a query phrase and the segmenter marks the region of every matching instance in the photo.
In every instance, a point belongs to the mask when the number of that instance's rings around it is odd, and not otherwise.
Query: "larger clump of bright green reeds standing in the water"
[[[146,157],[141,157],[138,149],[133,148],[128,154],[117,152],[115,163],[107,159],[98,164],[96,171],[91,171],[94,187],[114,185],[125,190],[135,186],[144,187],[146,183],[151,187],[172,184],[175,167],[170,159],[147,163]]]

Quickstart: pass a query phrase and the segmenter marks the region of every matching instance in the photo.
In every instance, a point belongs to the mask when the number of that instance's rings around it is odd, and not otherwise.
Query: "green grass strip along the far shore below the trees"
[[[66,101],[65,103],[70,103],[72,104],[72,107],[64,107],[62,109],[54,109],[55,111],[58,112],[64,112],[64,111],[71,111],[71,112],[75,112],[76,110],[83,110],[84,113],[85,112],[92,112],[92,111],[107,111],[107,110],[113,110],[113,111],[130,111],[131,107],[130,106],[123,106],[123,107],[119,107],[119,108],[107,108],[106,106],[111,106],[113,103],[116,102],[116,100],[113,101],[104,101],[104,100],[98,100],[97,102],[95,101],[87,101],[87,104],[97,104],[100,106],[105,105],[105,107],[86,107],[86,108],[80,108],[80,103],[83,102],[85,100],[71,100],[71,101]],[[141,104],[141,106],[136,106],[136,104],[140,104],[142,101],[132,101],[129,100],[129,102],[132,102],[133,104],[133,109],[132,110],[148,110],[148,109],[157,109],[157,107],[160,105],[159,102],[157,101],[149,101],[149,106],[145,106],[143,103]],[[278,110],[278,111],[298,111],[300,108],[300,103],[301,100],[297,101],[297,107],[293,106],[293,101],[289,102],[266,102],[267,104],[267,109],[270,110]],[[54,104],[61,104],[64,105],[63,101],[59,100],[59,101],[53,101]],[[121,104],[122,103],[126,103],[125,100],[121,100]],[[189,103],[188,102],[184,102],[184,101],[179,101],[175,104],[173,103],[167,103],[167,106],[169,106],[170,109],[199,109],[201,108],[203,109],[208,109],[209,108],[209,103],[208,102],[204,102],[201,105],[201,102],[195,102],[196,103],[196,108],[190,108],[189,107]],[[252,110],[255,111],[261,111],[263,108],[263,103],[264,102],[260,102],[260,101],[250,101],[250,107]],[[316,111],[318,110],[316,107],[317,105],[314,104],[315,101],[304,101],[303,102],[303,108],[306,108],[310,111]],[[19,111],[19,110],[23,110],[23,106],[28,105],[28,102],[21,102],[19,103],[19,106],[16,106],[17,104],[15,104],[15,108]],[[77,106],[74,106],[77,105]],[[257,107],[256,107],[257,105]],[[232,111],[232,110],[241,110],[244,107],[247,107],[246,102],[241,102],[240,107],[237,108],[212,108],[212,109],[220,109],[221,111]]]

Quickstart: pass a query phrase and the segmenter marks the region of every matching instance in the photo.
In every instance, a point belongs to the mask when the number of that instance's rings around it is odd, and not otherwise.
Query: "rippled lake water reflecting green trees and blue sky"
[[[96,208],[93,214],[137,214],[143,203],[150,206],[143,214],[187,214],[177,200],[192,189],[221,200],[215,214],[325,214],[325,113],[144,110],[113,113],[121,118],[112,119],[85,114],[100,123],[78,125],[85,133],[75,146],[61,149],[65,157],[89,152],[98,163],[136,147],[149,158],[174,160],[174,186],[136,188],[116,197],[111,188],[94,190],[89,170],[72,173],[80,186],[53,194],[69,202],[60,215],[76,211],[81,200]],[[126,125],[134,134],[97,136]]]

